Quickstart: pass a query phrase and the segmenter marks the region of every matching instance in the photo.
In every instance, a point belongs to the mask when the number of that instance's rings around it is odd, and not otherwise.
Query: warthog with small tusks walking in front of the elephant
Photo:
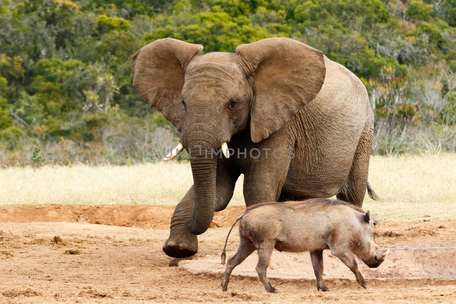
[[[355,274],[358,283],[366,288],[366,281],[359,272],[354,253],[370,268],[378,267],[389,254],[389,249],[378,247],[374,240],[376,221],[369,211],[364,213],[351,204],[330,199],[263,203],[248,208],[233,223],[239,223],[240,243],[238,251],[228,260],[222,281],[227,291],[233,269],[255,249],[258,251],[256,271],[270,293],[278,293],[266,277],[269,258],[273,249],[280,252],[310,251],[318,290],[328,291],[323,283],[323,250],[339,258]]]

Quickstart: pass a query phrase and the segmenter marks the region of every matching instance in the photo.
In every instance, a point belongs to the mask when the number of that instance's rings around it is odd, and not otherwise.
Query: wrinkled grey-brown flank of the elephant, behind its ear
[[[373,124],[363,83],[337,62],[325,57],[325,63],[320,93],[287,126],[296,136],[295,158],[282,198],[335,195],[347,181],[363,129]]]

